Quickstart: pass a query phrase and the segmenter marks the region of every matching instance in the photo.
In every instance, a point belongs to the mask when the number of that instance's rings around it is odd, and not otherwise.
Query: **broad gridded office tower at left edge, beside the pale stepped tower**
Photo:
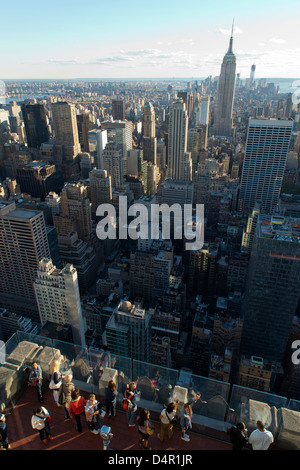
[[[0,204],[0,306],[39,322],[33,283],[50,257],[43,212]]]

